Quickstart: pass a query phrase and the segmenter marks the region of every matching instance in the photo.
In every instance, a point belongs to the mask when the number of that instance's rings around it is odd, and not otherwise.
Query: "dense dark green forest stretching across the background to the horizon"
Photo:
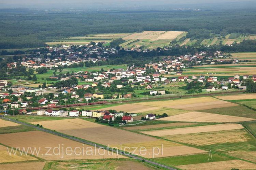
[[[256,10],[74,11],[0,10],[0,49],[43,47],[47,41],[94,33],[188,31],[187,37],[256,34]],[[200,34],[198,34],[200,33]]]

